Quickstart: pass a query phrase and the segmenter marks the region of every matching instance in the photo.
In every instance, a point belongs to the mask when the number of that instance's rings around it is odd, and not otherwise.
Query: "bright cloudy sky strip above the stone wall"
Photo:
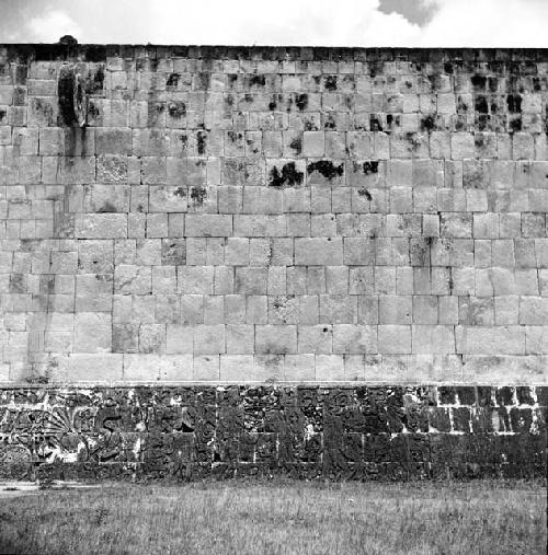
[[[0,43],[548,47],[548,0],[0,0]]]

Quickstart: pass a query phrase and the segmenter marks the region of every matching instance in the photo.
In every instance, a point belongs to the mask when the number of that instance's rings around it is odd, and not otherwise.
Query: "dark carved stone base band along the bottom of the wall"
[[[0,479],[546,476],[548,388],[0,393]]]

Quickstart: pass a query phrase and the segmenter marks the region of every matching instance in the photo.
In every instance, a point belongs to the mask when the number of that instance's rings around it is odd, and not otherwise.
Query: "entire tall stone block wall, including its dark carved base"
[[[0,45],[0,474],[539,475],[547,213],[547,50]],[[408,419],[344,428],[373,385]],[[298,429],[250,424],[305,391]],[[215,447],[56,428],[78,392],[212,411]]]

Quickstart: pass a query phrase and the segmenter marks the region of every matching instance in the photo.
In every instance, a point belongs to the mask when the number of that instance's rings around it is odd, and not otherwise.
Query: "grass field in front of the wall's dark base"
[[[0,498],[0,553],[544,554],[539,483],[109,484]]]

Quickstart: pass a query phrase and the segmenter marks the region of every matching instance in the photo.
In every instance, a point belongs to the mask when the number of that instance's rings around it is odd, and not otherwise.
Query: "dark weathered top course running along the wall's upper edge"
[[[123,44],[0,44],[0,62],[107,58],[191,58],[283,61],[412,61],[524,62],[548,61],[548,48],[364,48],[322,46],[123,45]]]

